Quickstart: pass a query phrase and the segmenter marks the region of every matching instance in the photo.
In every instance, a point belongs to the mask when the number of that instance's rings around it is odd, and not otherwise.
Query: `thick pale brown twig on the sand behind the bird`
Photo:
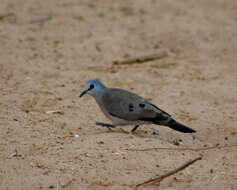
[[[161,59],[164,57],[167,57],[168,54],[166,51],[160,51],[156,54],[150,54],[150,55],[144,55],[144,56],[138,56],[134,58],[128,58],[124,60],[116,60],[113,61],[113,64],[119,65],[119,64],[135,64],[135,63],[143,63],[147,61],[153,61],[156,59]]]

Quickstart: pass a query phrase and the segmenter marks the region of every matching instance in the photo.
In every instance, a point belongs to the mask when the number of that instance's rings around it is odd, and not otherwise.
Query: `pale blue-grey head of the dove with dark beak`
[[[85,94],[90,94],[91,96],[96,97],[101,95],[105,89],[106,86],[99,80],[88,80],[85,83],[85,90],[80,94],[80,97]]]

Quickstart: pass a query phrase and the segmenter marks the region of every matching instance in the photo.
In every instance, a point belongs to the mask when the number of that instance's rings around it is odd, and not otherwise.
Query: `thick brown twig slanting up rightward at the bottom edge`
[[[202,159],[202,157],[197,157],[197,158],[195,158],[195,159],[193,159],[193,160],[190,160],[190,161],[186,162],[185,164],[183,164],[182,166],[178,167],[177,169],[172,170],[172,171],[170,171],[170,172],[168,172],[168,173],[166,173],[166,174],[164,174],[164,175],[162,175],[162,176],[159,176],[159,177],[150,179],[150,180],[148,180],[148,181],[145,181],[145,182],[143,182],[143,183],[137,184],[136,187],[135,187],[135,189],[137,189],[137,188],[140,187],[140,186],[149,186],[149,185],[157,185],[157,186],[159,186],[159,185],[160,185],[160,182],[161,182],[163,179],[165,179],[165,178],[167,178],[167,177],[169,177],[169,176],[171,176],[171,175],[174,175],[174,174],[180,172],[181,170],[184,170],[185,168],[187,168],[187,167],[190,166],[191,164],[193,164],[193,163],[195,163],[196,161],[201,160],[201,159]]]

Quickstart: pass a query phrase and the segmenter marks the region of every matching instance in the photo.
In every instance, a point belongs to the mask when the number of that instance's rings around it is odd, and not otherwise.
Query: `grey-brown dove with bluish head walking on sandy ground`
[[[112,121],[112,124],[96,122],[96,125],[109,129],[133,125],[131,132],[135,132],[143,124],[156,124],[182,133],[196,132],[143,97],[127,90],[108,88],[100,80],[86,81],[85,90],[79,97],[85,94],[91,95],[104,115]]]

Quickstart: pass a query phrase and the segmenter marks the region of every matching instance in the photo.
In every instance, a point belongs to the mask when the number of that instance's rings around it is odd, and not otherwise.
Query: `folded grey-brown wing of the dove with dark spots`
[[[109,89],[102,102],[110,115],[124,120],[153,121],[164,114],[169,116],[142,97],[121,89]]]

